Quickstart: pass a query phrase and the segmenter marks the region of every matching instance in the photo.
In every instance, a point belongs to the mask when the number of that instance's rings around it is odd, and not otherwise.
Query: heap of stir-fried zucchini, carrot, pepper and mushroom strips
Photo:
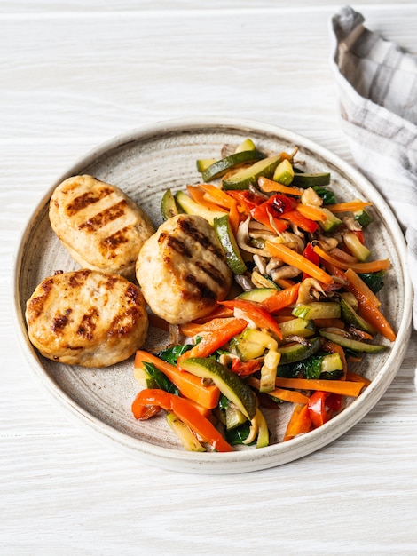
[[[185,449],[259,449],[325,425],[370,384],[350,362],[396,338],[376,296],[389,260],[366,245],[372,203],[337,199],[331,175],[300,171],[296,152],[262,153],[247,139],[197,161],[205,183],[163,196],[162,218],[197,213],[215,227],[241,289],[177,327],[176,345],[136,355],[133,415],[164,409]],[[282,438],[268,427],[278,404],[290,409]]]

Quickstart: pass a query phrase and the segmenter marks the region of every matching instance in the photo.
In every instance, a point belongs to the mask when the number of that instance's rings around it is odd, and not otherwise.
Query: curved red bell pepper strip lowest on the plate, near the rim
[[[171,411],[202,441],[209,443],[216,451],[231,452],[233,450],[209,419],[202,416],[200,411],[184,398],[163,390],[146,388],[138,393],[132,404],[132,411],[137,410],[140,406],[159,406],[166,411]]]

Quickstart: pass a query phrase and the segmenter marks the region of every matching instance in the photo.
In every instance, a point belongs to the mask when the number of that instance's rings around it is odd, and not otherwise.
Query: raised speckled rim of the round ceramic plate
[[[35,218],[39,208],[43,206],[51,197],[53,189],[70,175],[75,175],[78,170],[83,168],[87,163],[94,161],[98,156],[103,155],[108,150],[122,146],[130,141],[138,139],[146,139],[154,137],[158,134],[167,132],[184,132],[193,131],[201,128],[219,129],[219,128],[236,128],[236,130],[258,131],[273,138],[282,138],[291,141],[293,144],[311,150],[322,159],[334,164],[340,171],[344,172],[355,184],[358,184],[362,191],[372,195],[374,204],[378,210],[382,212],[386,225],[389,225],[389,233],[393,241],[396,243],[397,251],[401,260],[402,282],[404,284],[404,312],[401,318],[399,328],[397,330],[397,341],[390,350],[389,358],[385,362],[378,376],[374,378],[371,385],[360,397],[350,404],[342,414],[334,417],[326,425],[311,433],[297,437],[292,441],[274,444],[264,449],[235,451],[232,453],[193,453],[185,450],[167,449],[160,446],[149,444],[140,439],[132,438],[129,435],[114,429],[111,425],[106,425],[97,417],[92,416],[88,411],[78,406],[65,392],[59,389],[49,377],[40,361],[35,356],[35,350],[28,340],[26,323],[24,315],[21,313],[21,299],[19,291],[20,267],[22,262],[23,246],[28,240],[28,230],[30,223]],[[397,269],[398,270],[398,269]],[[226,473],[248,473],[257,470],[267,469],[277,465],[284,465],[295,459],[308,456],[312,452],[323,448],[330,442],[336,440],[342,434],[348,432],[351,427],[356,425],[366,414],[373,409],[374,405],[382,398],[383,393],[391,384],[396,376],[405,357],[405,351],[411,334],[412,321],[412,302],[413,290],[409,277],[407,254],[404,234],[397,223],[397,219],[385,202],[382,195],[372,186],[372,184],[349,163],[344,162],[339,156],[334,155],[327,148],[319,146],[317,143],[307,139],[292,131],[287,131],[275,125],[261,123],[248,119],[234,118],[204,118],[196,120],[195,118],[181,118],[177,120],[164,121],[150,126],[144,126],[127,133],[116,136],[98,147],[90,150],[89,153],[80,157],[78,162],[62,174],[57,179],[50,190],[43,195],[43,198],[32,211],[28,218],[27,226],[20,237],[18,248],[14,255],[13,267],[13,298],[14,298],[14,314],[13,319],[15,327],[22,346],[23,352],[29,362],[29,365],[35,372],[35,376],[40,379],[46,391],[59,405],[59,408],[66,409],[67,416],[75,422],[76,425],[83,425],[84,429],[89,433],[93,433],[96,438],[110,444],[113,448],[122,450],[123,453],[130,457],[139,458],[148,465],[157,465],[161,468],[169,469],[177,472],[186,473],[210,473],[210,474],[226,474]]]

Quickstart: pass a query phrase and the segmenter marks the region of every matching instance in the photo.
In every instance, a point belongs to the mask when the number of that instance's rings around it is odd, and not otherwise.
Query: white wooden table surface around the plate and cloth
[[[0,2],[0,553],[416,554],[413,334],[388,392],[327,448],[267,471],[178,474],[103,446],[37,382],[12,326],[20,231],[51,183],[114,135],[182,116],[248,117],[352,162],[327,0]],[[417,53],[417,4],[366,24]]]

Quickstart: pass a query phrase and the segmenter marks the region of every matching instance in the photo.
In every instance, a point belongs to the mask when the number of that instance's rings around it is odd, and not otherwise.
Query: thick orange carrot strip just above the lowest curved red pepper
[[[177,369],[175,365],[161,360],[152,353],[138,350],[135,356],[135,367],[141,367],[144,362],[153,363],[157,369],[169,377],[169,380],[179,388],[185,398],[189,398],[207,409],[216,408],[220,391],[215,385],[205,386],[202,384],[201,378],[185,370]]]

